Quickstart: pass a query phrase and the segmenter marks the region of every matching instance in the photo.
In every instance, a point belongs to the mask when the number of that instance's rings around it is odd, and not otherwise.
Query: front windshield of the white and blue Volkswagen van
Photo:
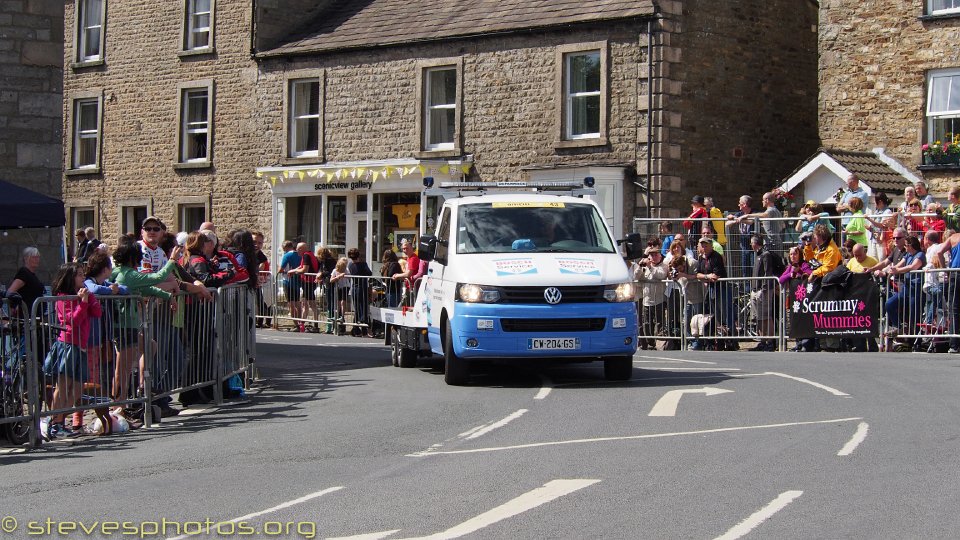
[[[615,253],[590,204],[477,203],[457,214],[457,253]]]

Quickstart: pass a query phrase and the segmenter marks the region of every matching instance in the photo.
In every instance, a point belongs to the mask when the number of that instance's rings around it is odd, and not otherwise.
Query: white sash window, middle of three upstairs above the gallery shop
[[[457,68],[444,66],[424,72],[425,150],[452,150],[457,119]]]

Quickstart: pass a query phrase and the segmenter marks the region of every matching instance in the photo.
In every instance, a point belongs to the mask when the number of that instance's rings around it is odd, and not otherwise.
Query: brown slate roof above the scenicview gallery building
[[[652,0],[339,0],[261,57],[308,54],[653,16]]]

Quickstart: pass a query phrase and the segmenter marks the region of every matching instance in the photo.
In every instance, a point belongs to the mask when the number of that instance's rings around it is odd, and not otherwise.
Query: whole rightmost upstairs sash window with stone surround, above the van
[[[558,148],[607,144],[607,44],[557,49]]]

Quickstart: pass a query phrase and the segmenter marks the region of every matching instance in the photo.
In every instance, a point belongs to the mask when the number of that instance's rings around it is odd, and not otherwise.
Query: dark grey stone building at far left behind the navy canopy
[[[0,178],[60,198],[63,2],[0,3]],[[0,193],[0,197],[3,194]],[[0,283],[9,285],[27,246],[41,252],[49,283],[63,261],[57,229],[0,232]]]

